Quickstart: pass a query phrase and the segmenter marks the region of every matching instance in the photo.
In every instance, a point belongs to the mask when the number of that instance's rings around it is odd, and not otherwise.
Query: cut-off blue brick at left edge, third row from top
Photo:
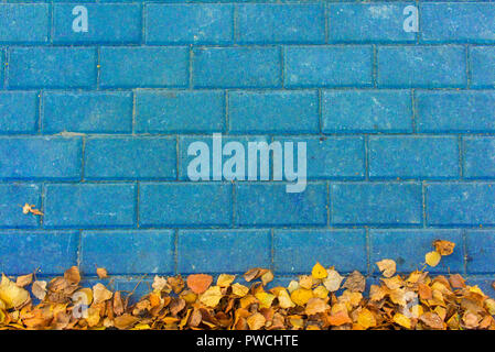
[[[0,91],[0,134],[29,134],[36,131],[37,94]]]

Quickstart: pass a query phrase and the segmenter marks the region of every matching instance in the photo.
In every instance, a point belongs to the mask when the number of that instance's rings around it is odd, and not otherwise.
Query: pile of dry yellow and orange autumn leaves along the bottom
[[[435,241],[426,267],[450,255],[455,244]],[[396,275],[396,263],[376,263],[383,277],[364,297],[365,277],[341,276],[333,267],[314,265],[286,287],[267,289],[269,270],[244,275],[250,287],[234,283],[234,275],[190,275],[184,280],[155,276],[153,290],[137,304],[104,285],[79,286],[77,267],[50,283],[34,275],[15,282],[2,276],[0,329],[495,329],[495,300],[459,274],[431,277],[416,271]],[[104,268],[97,274],[107,276]],[[32,296],[41,300],[33,305]],[[338,292],[338,294],[337,294]]]

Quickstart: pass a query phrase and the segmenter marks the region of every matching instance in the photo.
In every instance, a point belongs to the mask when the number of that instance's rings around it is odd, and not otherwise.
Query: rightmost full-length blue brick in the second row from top
[[[378,47],[380,87],[446,88],[467,84],[462,46]]]

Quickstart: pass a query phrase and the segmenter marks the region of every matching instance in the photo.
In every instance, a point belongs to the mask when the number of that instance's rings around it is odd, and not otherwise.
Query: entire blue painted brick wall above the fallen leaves
[[[305,190],[190,180],[214,132],[305,142]],[[485,283],[494,133],[493,1],[3,1],[0,271],[374,275],[442,238]]]

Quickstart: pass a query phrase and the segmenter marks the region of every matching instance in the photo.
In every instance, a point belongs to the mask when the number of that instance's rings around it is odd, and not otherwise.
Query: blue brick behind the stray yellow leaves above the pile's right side
[[[376,262],[390,258],[398,273],[421,271],[424,253],[433,251],[433,241],[446,240],[455,243],[454,253],[443,256],[430,273],[464,273],[464,241],[460,230],[374,230],[369,232],[372,272],[379,274]]]

